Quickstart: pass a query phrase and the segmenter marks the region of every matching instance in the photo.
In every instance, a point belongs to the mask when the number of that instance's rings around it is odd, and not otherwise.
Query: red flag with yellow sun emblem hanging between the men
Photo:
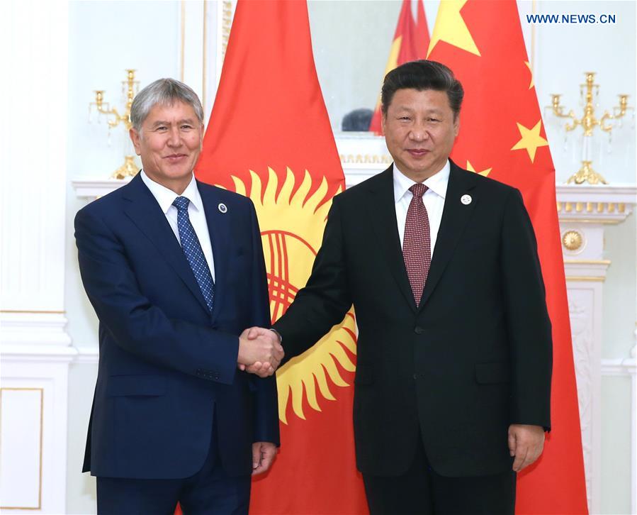
[[[257,208],[272,321],[307,282],[344,175],[312,55],[305,1],[239,0],[196,177]],[[367,511],[354,458],[353,311],[276,372],[281,450],[251,514]]]

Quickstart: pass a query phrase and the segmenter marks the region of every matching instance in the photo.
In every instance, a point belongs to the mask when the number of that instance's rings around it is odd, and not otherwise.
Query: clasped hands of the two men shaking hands
[[[239,336],[237,367],[259,377],[274,374],[283,359],[278,333],[262,327],[251,327]]]

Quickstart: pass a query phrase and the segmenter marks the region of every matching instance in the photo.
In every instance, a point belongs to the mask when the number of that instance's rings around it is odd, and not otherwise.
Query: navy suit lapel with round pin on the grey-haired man
[[[227,283],[227,263],[228,252],[226,243],[230,238],[230,221],[232,220],[232,212],[229,207],[227,211],[222,213],[220,205],[222,201],[215,188],[202,184],[197,181],[199,194],[203,201],[203,209],[205,211],[205,220],[208,222],[208,233],[210,233],[210,243],[213,246],[213,260],[215,261],[215,300],[213,304],[213,319],[219,313],[222,306],[222,299],[225,294]]]

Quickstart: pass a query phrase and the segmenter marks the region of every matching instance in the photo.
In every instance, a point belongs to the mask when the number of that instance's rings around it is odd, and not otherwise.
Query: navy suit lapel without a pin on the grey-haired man
[[[184,251],[181,250],[181,245],[175,238],[166,215],[142,181],[142,177],[139,174],[135,175],[124,188],[123,196],[127,200],[124,206],[126,216],[146,235],[157,248],[159,254],[181,277],[186,287],[197,297],[203,308],[208,311],[208,306],[205,304],[203,294],[201,294],[201,289],[199,289],[199,284],[197,284]]]

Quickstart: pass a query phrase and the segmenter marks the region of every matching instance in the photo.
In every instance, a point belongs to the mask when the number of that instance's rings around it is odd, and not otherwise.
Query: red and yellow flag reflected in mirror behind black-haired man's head
[[[385,67],[385,75],[391,72],[398,65],[416,59],[424,59],[429,47],[429,27],[427,26],[427,16],[424,14],[422,0],[417,1],[417,18],[414,20],[412,14],[412,0],[402,0],[402,8],[398,15],[398,24],[394,33],[394,39],[389,51],[389,59]],[[380,127],[380,96],[376,102],[369,130],[382,134]]]

